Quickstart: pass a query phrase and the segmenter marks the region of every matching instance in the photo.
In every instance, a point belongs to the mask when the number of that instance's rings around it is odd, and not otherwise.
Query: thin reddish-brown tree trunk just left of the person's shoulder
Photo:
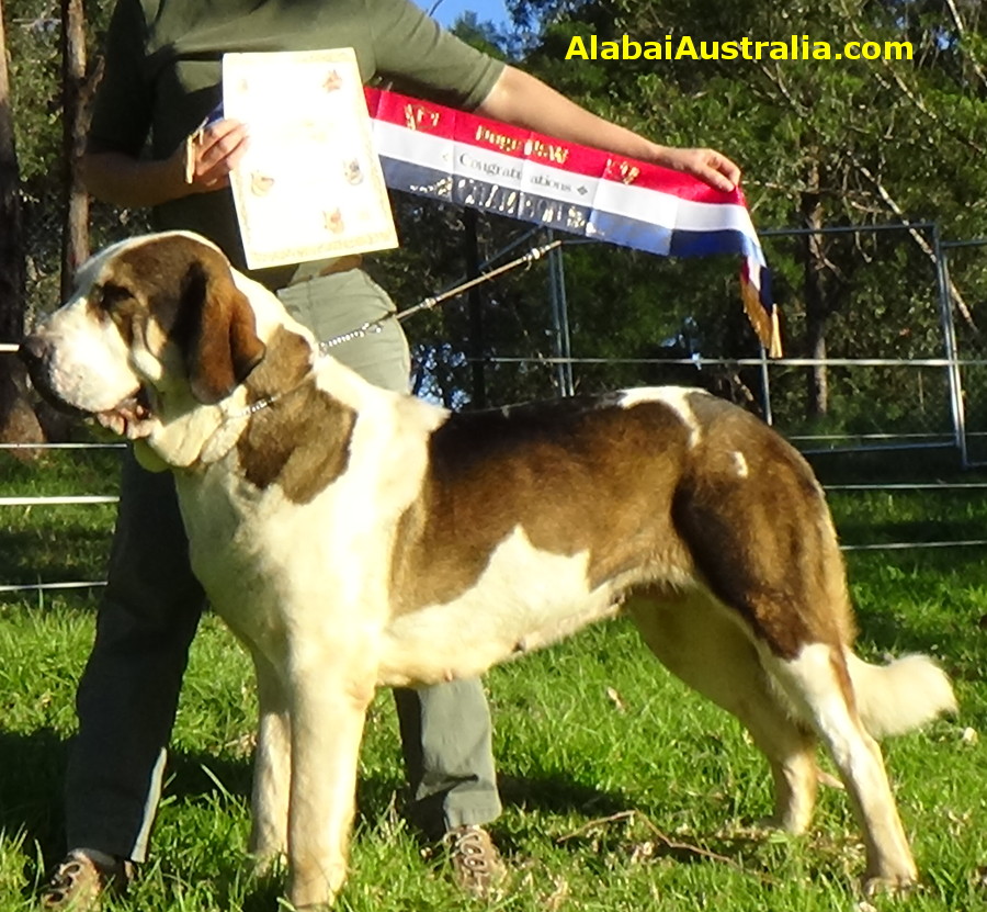
[[[79,176],[79,156],[89,130],[91,87],[86,81],[82,0],[61,0],[63,149],[65,226],[61,233],[61,300],[69,297],[79,263],[89,258],[89,195]]]

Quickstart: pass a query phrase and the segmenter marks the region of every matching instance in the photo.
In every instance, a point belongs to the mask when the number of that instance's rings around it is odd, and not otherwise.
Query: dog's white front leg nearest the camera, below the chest
[[[288,897],[298,909],[328,907],[345,879],[360,741],[374,686],[375,674],[363,663],[327,667],[316,658],[292,668]]]

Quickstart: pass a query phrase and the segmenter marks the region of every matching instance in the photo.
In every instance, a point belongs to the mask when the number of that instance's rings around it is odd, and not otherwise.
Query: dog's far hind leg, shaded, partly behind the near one
[[[700,593],[671,600],[644,593],[632,598],[626,610],[659,661],[737,717],[768,758],[774,811],[764,823],[804,832],[816,799],[815,736],[780,700],[750,637]]]

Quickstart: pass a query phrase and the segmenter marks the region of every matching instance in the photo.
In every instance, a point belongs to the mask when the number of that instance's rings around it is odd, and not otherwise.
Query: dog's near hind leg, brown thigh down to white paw
[[[750,631],[763,668],[836,763],[863,829],[865,885],[907,888],[915,862],[856,708],[846,568],[808,463],[753,419],[718,420],[699,439],[672,513],[694,576]]]

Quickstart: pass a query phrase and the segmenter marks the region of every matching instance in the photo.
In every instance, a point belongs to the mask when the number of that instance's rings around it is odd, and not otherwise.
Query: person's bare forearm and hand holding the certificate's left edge
[[[80,164],[86,188],[97,199],[121,206],[155,206],[228,185],[229,172],[246,148],[247,128],[238,121],[224,120],[166,159],[137,159],[94,149],[84,153]]]

